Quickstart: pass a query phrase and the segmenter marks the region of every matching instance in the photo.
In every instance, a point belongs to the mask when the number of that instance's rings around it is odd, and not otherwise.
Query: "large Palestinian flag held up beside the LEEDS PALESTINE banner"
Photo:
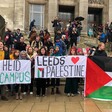
[[[84,95],[88,98],[112,100],[112,58],[93,56],[87,59]]]

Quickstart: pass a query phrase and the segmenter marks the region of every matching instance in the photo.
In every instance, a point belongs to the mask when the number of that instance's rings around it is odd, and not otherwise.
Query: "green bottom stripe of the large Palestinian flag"
[[[103,86],[92,94],[88,95],[87,98],[112,100],[112,86]]]

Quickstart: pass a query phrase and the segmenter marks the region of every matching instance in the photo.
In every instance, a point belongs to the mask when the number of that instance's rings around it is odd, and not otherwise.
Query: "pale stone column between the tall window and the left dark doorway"
[[[58,0],[49,0],[48,2],[48,30],[53,33],[51,21],[58,15]]]

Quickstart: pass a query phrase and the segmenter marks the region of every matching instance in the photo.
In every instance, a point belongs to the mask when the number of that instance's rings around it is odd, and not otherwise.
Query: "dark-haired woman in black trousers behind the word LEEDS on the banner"
[[[47,56],[47,51],[45,47],[41,47],[39,56]],[[37,97],[45,96],[46,93],[46,79],[45,78],[37,78],[36,79],[36,88],[37,88]]]

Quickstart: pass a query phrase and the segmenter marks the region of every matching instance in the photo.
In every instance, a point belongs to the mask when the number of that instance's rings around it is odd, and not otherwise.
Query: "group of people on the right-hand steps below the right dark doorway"
[[[100,42],[105,43],[108,52],[112,51],[112,22],[110,25],[109,23],[105,24],[105,26],[102,24],[99,26],[92,24],[88,28],[88,35],[89,37],[95,37]]]

